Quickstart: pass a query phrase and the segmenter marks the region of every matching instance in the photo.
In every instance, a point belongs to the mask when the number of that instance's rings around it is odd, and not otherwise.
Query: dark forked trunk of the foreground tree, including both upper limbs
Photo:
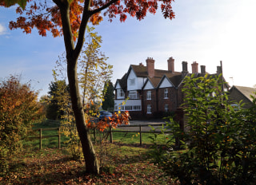
[[[99,173],[98,160],[94,151],[93,144],[90,140],[90,132],[86,127],[86,121],[82,106],[82,100],[79,93],[78,85],[78,56],[82,50],[84,43],[84,35],[87,22],[90,18],[90,1],[85,1],[85,9],[82,14],[82,22],[78,32],[78,42],[74,48],[74,38],[70,26],[70,1],[69,0],[53,0],[59,7],[62,16],[62,30],[64,36],[64,43],[66,48],[66,61],[67,61],[67,77],[70,85],[70,97],[72,109],[74,111],[75,123],[78,128],[78,136],[82,144],[82,152],[86,161],[86,172]],[[87,8],[86,8],[87,7]]]

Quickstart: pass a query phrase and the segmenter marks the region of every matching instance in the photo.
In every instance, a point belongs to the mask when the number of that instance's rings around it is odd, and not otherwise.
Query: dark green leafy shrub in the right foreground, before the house
[[[183,150],[176,152],[171,141],[155,146],[155,162],[182,184],[255,182],[255,97],[253,108],[235,111],[222,92],[221,76],[192,76],[184,83],[185,132],[172,120],[167,129],[174,133],[166,136],[179,140]]]

